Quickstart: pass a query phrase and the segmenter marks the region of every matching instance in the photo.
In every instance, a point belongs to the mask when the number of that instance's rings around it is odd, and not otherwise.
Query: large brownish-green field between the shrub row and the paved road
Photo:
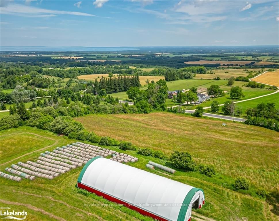
[[[76,118],[100,136],[131,141],[139,147],[189,151],[196,160],[213,164],[218,172],[244,176],[257,188],[279,190],[278,132],[225,121],[166,112],[91,115]]]

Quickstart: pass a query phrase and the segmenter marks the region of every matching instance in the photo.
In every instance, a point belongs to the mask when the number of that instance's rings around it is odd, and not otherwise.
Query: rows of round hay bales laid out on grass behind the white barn
[[[36,162],[27,161],[26,163],[18,162],[17,165],[12,164],[12,168],[7,167],[5,169],[10,174],[0,172],[0,175],[3,178],[15,181],[21,181],[22,178],[34,180],[36,177],[52,180],[60,174],[82,166],[97,156],[109,156],[111,160],[118,161],[119,163],[136,162],[138,160],[136,157],[114,150],[75,142],[66,146],[57,147],[52,152],[45,151],[45,153],[41,153]]]

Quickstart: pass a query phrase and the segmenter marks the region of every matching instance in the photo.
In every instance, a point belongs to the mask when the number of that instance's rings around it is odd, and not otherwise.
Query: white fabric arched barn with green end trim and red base
[[[202,189],[103,157],[86,163],[77,186],[162,221],[189,221],[205,203]]]

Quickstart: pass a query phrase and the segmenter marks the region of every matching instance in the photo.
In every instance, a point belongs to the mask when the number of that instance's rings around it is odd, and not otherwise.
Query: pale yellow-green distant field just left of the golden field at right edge
[[[253,71],[254,73],[256,73],[257,71],[261,71],[260,68],[251,68],[248,69],[249,71]],[[213,79],[215,77],[220,77],[221,79],[227,79],[230,77],[239,77],[239,76],[243,76],[246,77],[248,75],[247,71],[245,69],[224,69],[224,70],[212,70],[212,74],[196,74],[196,77],[194,77],[195,79]]]

